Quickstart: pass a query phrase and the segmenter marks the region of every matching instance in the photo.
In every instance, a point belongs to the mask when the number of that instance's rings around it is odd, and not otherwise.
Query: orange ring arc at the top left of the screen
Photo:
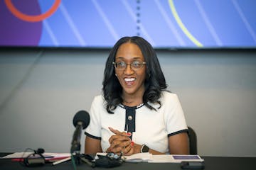
[[[21,11],[18,11],[18,9],[14,6],[14,4],[12,4],[11,0],[5,0],[7,8],[9,8],[9,10],[11,11],[11,13],[14,14],[14,16],[16,16],[17,18],[20,18],[23,21],[28,21],[28,22],[38,22],[48,18],[58,9],[60,2],[61,0],[55,0],[53,6],[51,6],[50,9],[46,11],[46,13],[42,13],[38,16],[29,16],[24,13],[21,13]]]

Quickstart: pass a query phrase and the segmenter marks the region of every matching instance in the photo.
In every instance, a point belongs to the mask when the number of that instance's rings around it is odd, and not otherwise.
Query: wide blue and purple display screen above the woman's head
[[[0,46],[256,47],[255,0],[1,0]]]

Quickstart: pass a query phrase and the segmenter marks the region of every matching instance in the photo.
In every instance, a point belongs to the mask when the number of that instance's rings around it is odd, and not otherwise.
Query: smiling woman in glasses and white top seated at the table
[[[92,101],[85,154],[188,154],[183,110],[166,87],[149,42],[137,36],[118,40],[107,58],[103,95]]]

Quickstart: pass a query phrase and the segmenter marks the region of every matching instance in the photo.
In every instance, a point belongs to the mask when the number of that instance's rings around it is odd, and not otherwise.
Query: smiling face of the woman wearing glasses
[[[146,78],[146,64],[141,68],[133,69],[130,64],[145,62],[139,46],[126,42],[119,46],[115,56],[115,62],[125,62],[125,69],[115,68],[117,79],[122,86],[123,95],[142,95],[144,94],[144,81]]]

